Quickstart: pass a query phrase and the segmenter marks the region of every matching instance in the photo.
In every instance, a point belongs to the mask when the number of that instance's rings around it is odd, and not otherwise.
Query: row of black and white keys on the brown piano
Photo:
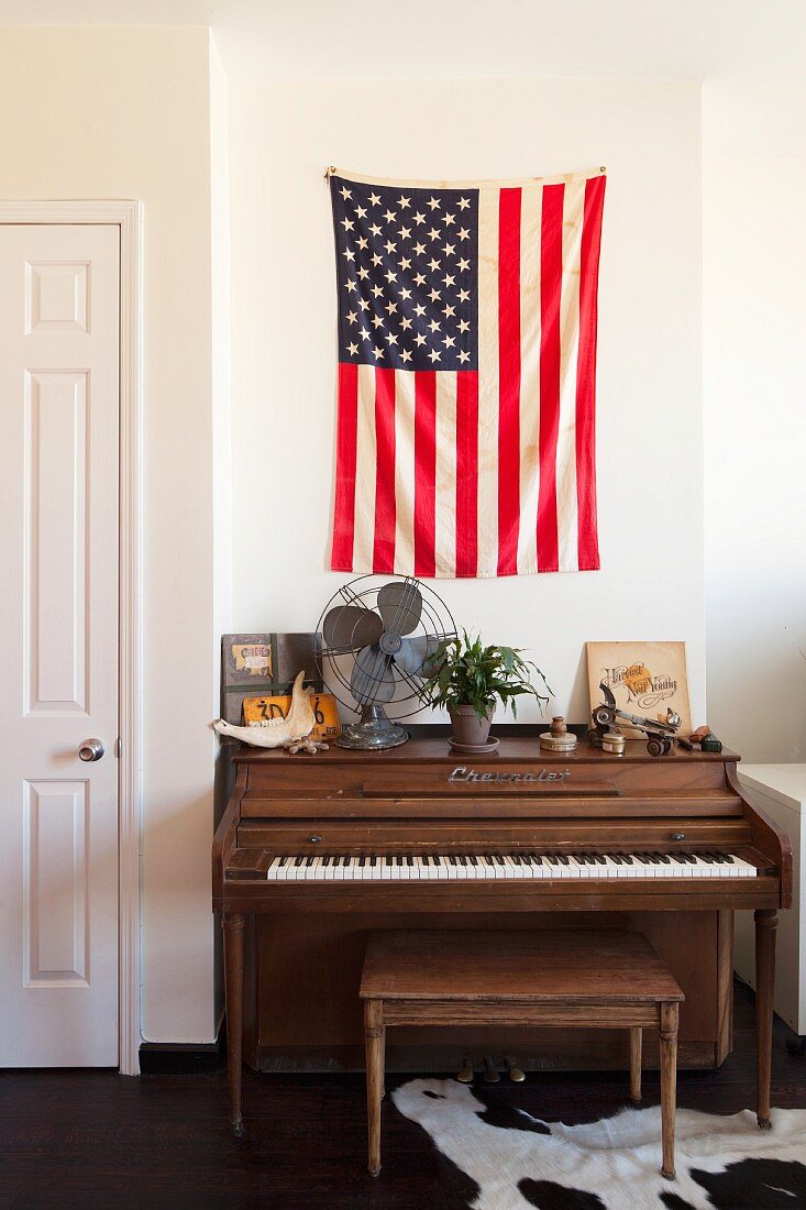
[[[275,857],[270,882],[425,882],[430,878],[753,878],[755,865],[735,853],[398,853],[363,857]]]

